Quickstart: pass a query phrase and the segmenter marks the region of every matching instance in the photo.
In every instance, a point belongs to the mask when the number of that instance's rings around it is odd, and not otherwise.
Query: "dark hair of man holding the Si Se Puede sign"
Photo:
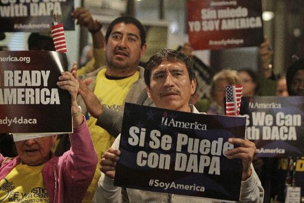
[[[196,80],[193,62],[189,57],[176,50],[162,49],[146,62],[146,67],[144,70],[144,82],[148,87],[150,87],[151,72],[156,66],[160,65],[163,61],[183,62],[187,67],[190,81],[192,81],[193,79]]]

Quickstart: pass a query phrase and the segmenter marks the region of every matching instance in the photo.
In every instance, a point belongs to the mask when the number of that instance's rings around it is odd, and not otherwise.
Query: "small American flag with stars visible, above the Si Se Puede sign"
[[[243,90],[243,85],[226,86],[226,115],[227,116],[240,115],[242,90]]]

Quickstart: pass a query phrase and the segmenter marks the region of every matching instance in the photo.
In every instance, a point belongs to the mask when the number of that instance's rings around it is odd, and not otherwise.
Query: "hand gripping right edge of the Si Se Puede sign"
[[[246,181],[251,176],[251,167],[250,164],[253,160],[253,156],[256,150],[256,147],[253,142],[245,139],[239,138],[230,138],[228,142],[234,145],[239,145],[240,147],[227,150],[225,155],[229,159],[240,158],[242,159],[243,173],[242,181]]]

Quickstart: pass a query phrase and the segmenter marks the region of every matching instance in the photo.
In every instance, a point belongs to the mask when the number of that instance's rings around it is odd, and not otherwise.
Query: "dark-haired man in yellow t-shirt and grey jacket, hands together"
[[[138,66],[146,49],[145,37],[137,19],[122,16],[113,20],[104,40],[106,66],[83,77],[91,77],[89,85],[79,79],[78,101],[88,119],[99,160],[121,131],[124,103],[153,104],[145,92],[144,69]],[[92,201],[99,177],[97,167],[83,202]]]

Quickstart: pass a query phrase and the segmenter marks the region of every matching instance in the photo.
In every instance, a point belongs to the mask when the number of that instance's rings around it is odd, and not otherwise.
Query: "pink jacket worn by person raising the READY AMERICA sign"
[[[52,158],[42,170],[50,202],[81,202],[97,165],[97,155],[87,123],[84,121],[70,134],[71,148],[62,156]],[[5,157],[0,154],[0,163]],[[0,180],[20,163],[20,157],[7,160],[0,166]]]

